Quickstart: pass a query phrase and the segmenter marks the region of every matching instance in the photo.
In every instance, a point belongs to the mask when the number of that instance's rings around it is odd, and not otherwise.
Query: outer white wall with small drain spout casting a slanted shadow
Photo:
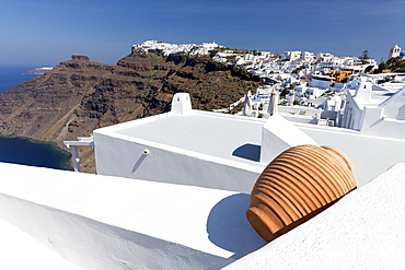
[[[97,174],[250,193],[263,172],[215,156],[94,132]],[[148,149],[149,154],[143,155]]]

